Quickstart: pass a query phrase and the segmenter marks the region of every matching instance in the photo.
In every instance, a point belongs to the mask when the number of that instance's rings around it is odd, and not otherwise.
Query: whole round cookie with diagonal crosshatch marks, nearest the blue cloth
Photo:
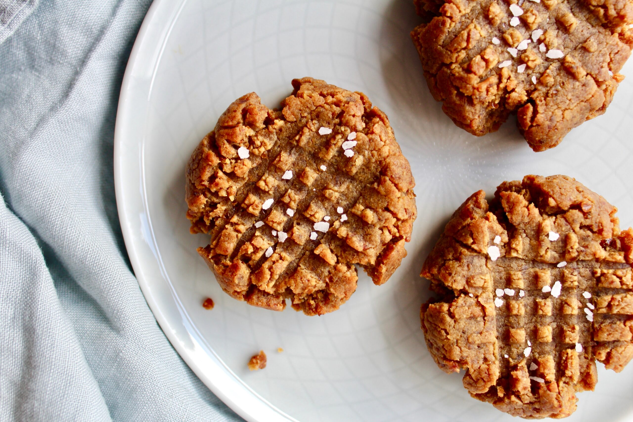
[[[191,233],[222,289],[281,311],[335,309],[356,289],[354,264],[386,282],[416,217],[411,168],[387,116],[361,92],[292,81],[282,108],[235,100],[187,164]]]

